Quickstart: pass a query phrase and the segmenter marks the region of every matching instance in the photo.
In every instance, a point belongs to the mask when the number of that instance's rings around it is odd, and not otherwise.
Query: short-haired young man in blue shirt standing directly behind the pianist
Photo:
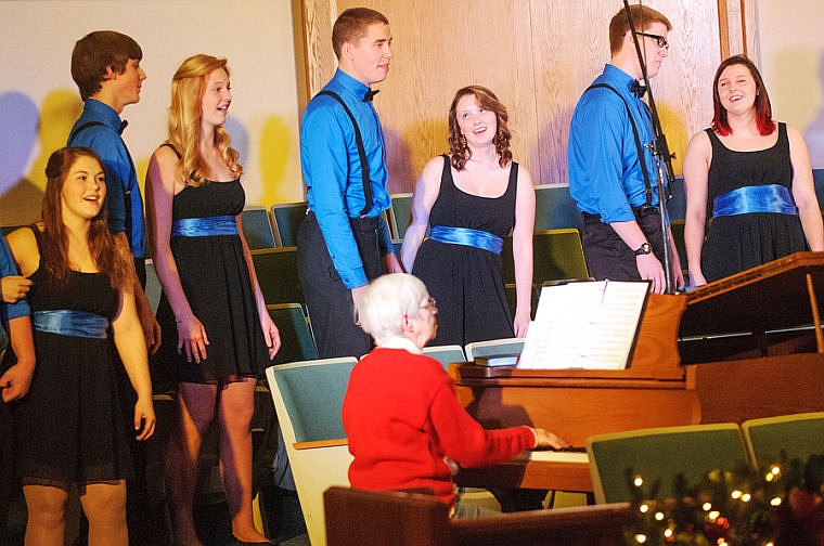
[[[368,8],[346,10],[332,44],[338,69],[309,102],[300,128],[309,210],[298,232],[298,273],[320,356],[359,358],[371,341],[352,302],[369,281],[401,272],[382,217],[390,204],[386,150],[370,89],[389,73],[389,22]]]

